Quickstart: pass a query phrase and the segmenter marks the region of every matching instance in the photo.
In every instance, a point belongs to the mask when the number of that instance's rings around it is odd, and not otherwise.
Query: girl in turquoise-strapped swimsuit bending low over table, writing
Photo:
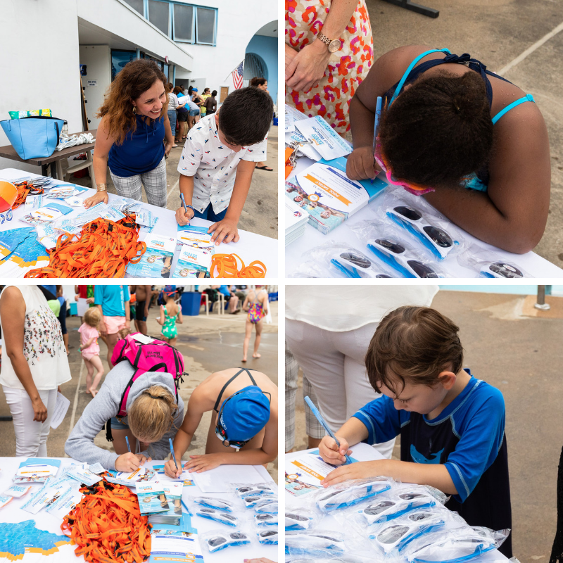
[[[377,96],[384,100],[374,145]],[[550,201],[550,146],[526,94],[483,63],[410,45],[372,65],[350,103],[351,179],[386,172],[478,239],[514,253],[540,241]],[[375,162],[374,162],[375,152]]]

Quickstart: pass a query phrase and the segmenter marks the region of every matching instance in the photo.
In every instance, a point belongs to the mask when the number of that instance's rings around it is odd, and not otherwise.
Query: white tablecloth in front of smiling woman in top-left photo
[[[40,176],[38,174],[32,174],[31,172],[23,172],[22,170],[17,170],[16,168],[4,168],[0,170],[0,179],[8,180],[11,179],[21,178],[24,176]],[[57,180],[58,184],[70,184],[71,182],[63,182],[62,180]],[[80,198],[86,199],[89,196],[94,195],[95,191],[93,189],[88,189],[88,193],[80,194]],[[118,198],[119,196],[115,196],[114,194],[108,194],[109,201]],[[47,200],[49,201],[49,200]],[[59,203],[64,203],[63,200],[50,200],[56,201]],[[148,203],[143,204],[144,207],[151,210],[153,216],[158,217],[158,222],[153,228],[153,232],[151,234],[160,234],[163,236],[170,236],[171,238],[175,239],[177,237],[177,222],[175,218],[175,211],[170,209],[163,209],[160,207],[156,207],[155,205],[148,205]],[[65,215],[65,218],[72,219],[79,213],[84,211],[83,208],[74,208],[72,213]],[[20,207],[13,212],[13,220],[6,221],[4,224],[0,225],[0,231],[8,230],[8,229],[17,229],[20,227],[30,227],[29,224],[18,221],[18,217],[23,217],[26,215],[24,211],[24,205],[20,205]],[[194,219],[191,220],[191,224],[200,226],[200,227],[209,227],[213,224],[210,221],[206,221],[204,219]],[[148,233],[140,232],[139,239],[142,241],[146,238]],[[215,247],[215,253],[217,254],[237,254],[241,257],[244,264],[248,266],[254,260],[260,260],[266,266],[266,276],[276,278],[278,276],[278,269],[277,269],[277,248],[278,248],[278,241],[277,239],[270,239],[267,236],[262,236],[261,234],[255,234],[248,231],[243,231],[239,229],[239,236],[241,237],[238,242],[230,242],[228,244],[220,244],[220,246]],[[179,254],[179,247],[177,247],[177,251],[174,256],[174,260],[172,262],[171,271],[174,272],[178,260]]]

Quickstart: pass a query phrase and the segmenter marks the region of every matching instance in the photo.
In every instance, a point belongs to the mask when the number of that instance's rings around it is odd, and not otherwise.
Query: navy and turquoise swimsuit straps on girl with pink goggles
[[[416,66],[418,61],[420,61],[420,59],[424,58],[426,55],[429,55],[430,53],[448,53],[448,54],[444,58],[435,58],[432,59],[431,61],[425,61],[424,63],[421,63],[418,66]],[[410,63],[407,70],[405,70],[405,74],[403,75],[403,78],[401,78],[399,82],[395,84],[395,86],[391,87],[387,91],[386,97],[391,98],[391,101],[388,103],[388,105],[391,106],[391,103],[393,103],[396,97],[401,93],[401,91],[403,91],[403,87],[405,87],[405,84],[410,84],[411,82],[414,82],[419,77],[419,75],[422,74],[422,72],[429,70],[429,68],[442,65],[444,63],[460,63],[462,65],[467,65],[467,67],[469,67],[471,70],[474,70],[475,72],[479,72],[479,74],[481,75],[481,77],[483,77],[483,80],[485,81],[489,107],[491,107],[493,103],[493,87],[491,86],[491,81],[488,80],[488,76],[494,76],[495,78],[500,78],[500,80],[504,80],[505,82],[512,84],[512,82],[506,80],[505,78],[502,78],[502,76],[495,75],[494,72],[487,70],[486,66],[483,65],[481,61],[477,61],[475,58],[471,58],[471,55],[469,55],[469,53],[464,53],[461,56],[457,56],[454,55],[453,53],[450,53],[448,49],[431,49],[430,51],[424,51],[424,53],[421,53],[419,56],[417,56],[415,60],[412,61],[412,63]],[[533,102],[534,101],[533,96],[531,94],[526,94],[526,96],[519,98],[516,101],[513,101],[512,103],[509,103],[508,106],[500,110],[493,117],[492,119],[493,125],[498,120],[500,120],[500,118],[502,118],[502,115],[505,115],[505,113],[510,111],[512,108],[515,108],[516,106],[519,106],[521,103],[524,103],[526,101]],[[472,177],[470,177],[467,182],[464,182],[464,187],[469,189],[476,189],[479,191],[487,191],[488,180],[489,180],[488,166],[485,166],[481,170],[479,170],[479,172],[474,172]]]

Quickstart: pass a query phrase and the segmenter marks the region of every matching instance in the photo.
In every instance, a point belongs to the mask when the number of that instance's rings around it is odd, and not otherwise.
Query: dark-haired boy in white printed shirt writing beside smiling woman
[[[178,164],[188,210],[183,205],[176,210],[178,224],[201,217],[214,222],[208,232],[213,232],[215,244],[239,240],[236,226],[255,165],[266,159],[273,113],[269,94],[243,88],[190,129]]]

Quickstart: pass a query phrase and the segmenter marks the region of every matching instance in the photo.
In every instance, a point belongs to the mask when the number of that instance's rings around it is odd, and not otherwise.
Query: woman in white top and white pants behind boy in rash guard
[[[377,324],[401,305],[426,305],[437,286],[286,286],[286,343],[315,389],[321,415],[336,432],[376,398],[365,353]],[[374,446],[390,458],[395,440]]]

